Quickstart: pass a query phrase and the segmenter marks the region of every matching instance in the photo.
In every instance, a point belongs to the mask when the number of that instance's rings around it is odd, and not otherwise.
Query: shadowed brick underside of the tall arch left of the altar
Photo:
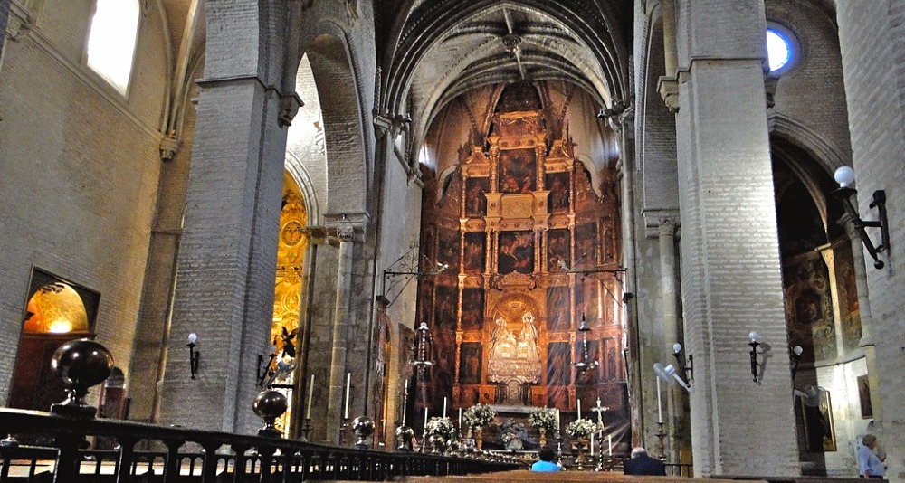
[[[367,212],[372,185],[359,88],[362,85],[342,30],[315,36],[305,52],[314,74],[327,151],[327,213]]]

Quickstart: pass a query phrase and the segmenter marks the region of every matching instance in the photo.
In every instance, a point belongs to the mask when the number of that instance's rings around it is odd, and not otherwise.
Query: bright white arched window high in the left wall
[[[88,33],[87,65],[123,96],[138,40],[138,0],[95,0]]]

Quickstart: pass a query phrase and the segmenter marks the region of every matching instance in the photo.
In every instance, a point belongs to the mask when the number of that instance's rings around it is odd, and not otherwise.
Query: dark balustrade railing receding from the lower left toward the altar
[[[298,440],[195,431],[140,422],[75,419],[48,412],[0,410],[0,483],[13,481],[291,482],[456,476],[525,466],[512,459],[334,448]],[[90,438],[118,450],[87,450]],[[41,446],[25,441],[43,440]],[[139,443],[165,448],[136,450]],[[42,474],[42,472],[44,474]],[[50,473],[50,474],[48,474]]]

